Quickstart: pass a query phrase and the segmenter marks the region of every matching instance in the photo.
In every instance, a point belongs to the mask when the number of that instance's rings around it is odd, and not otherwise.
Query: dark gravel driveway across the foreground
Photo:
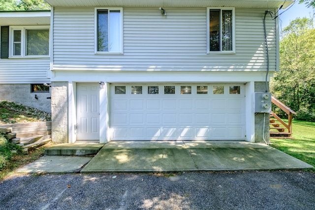
[[[0,183],[1,210],[314,210],[315,174],[19,175]]]

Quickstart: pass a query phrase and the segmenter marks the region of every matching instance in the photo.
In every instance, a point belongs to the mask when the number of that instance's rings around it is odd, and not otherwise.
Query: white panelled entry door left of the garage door
[[[77,140],[99,141],[99,85],[77,84]]]

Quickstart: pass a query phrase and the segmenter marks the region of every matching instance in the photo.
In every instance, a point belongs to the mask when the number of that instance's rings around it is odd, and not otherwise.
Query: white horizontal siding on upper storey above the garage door
[[[54,9],[54,70],[266,71],[265,9],[235,8],[235,54],[207,55],[206,8],[124,8],[124,55],[95,55],[95,8]],[[270,70],[276,21],[266,19]]]

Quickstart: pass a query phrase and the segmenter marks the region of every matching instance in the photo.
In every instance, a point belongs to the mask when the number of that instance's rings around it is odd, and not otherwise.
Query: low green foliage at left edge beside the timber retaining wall
[[[12,156],[15,154],[13,151],[21,152],[22,147],[10,143],[3,134],[0,134],[0,170],[6,168]]]

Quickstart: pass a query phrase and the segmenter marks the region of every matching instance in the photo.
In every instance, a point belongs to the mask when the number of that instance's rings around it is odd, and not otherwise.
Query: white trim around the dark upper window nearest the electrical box
[[[210,9],[232,10],[232,48],[231,51],[210,51]],[[220,12],[220,20],[222,19],[222,12]],[[220,24],[220,31],[222,25]],[[220,32],[221,34],[221,32]],[[222,43],[220,43],[221,46]],[[234,7],[207,7],[207,54],[235,54],[235,8]]]

